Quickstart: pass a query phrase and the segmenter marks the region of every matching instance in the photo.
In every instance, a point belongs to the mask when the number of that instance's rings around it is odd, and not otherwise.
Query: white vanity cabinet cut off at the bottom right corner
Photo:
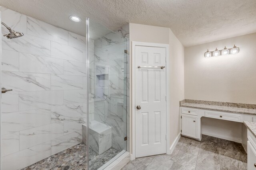
[[[256,170],[256,137],[247,130],[247,169]]]

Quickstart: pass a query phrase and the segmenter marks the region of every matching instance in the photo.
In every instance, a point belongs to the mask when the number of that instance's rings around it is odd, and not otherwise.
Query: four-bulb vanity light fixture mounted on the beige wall
[[[204,57],[217,57],[220,55],[229,55],[229,54],[237,54],[239,53],[239,48],[234,45],[233,48],[227,49],[226,46],[223,50],[218,50],[217,48],[214,51],[207,50],[206,53],[204,53]]]

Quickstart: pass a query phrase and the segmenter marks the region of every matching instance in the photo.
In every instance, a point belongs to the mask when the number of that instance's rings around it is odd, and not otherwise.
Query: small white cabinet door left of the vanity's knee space
[[[182,135],[196,138],[197,117],[182,115]]]

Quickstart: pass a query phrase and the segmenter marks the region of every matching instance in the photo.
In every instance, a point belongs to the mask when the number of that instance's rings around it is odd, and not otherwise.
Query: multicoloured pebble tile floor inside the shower
[[[110,148],[98,155],[90,149],[90,170],[97,170],[114,156],[118,150]],[[22,170],[86,170],[86,145],[80,143],[74,147],[40,160]]]

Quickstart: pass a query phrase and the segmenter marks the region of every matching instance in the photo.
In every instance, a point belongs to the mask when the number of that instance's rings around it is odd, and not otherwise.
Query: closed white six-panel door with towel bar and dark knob
[[[166,153],[166,49],[135,47],[135,155]]]

